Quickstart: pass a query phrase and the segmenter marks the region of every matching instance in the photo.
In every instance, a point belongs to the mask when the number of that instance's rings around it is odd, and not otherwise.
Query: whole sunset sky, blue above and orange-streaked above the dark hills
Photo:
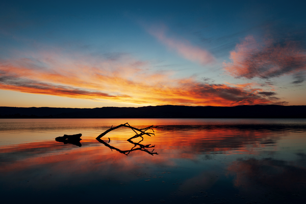
[[[306,105],[305,1],[0,2],[0,106]]]

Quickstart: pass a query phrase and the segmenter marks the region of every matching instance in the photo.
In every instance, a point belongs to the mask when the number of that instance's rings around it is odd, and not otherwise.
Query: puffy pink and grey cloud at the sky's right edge
[[[231,52],[230,59],[232,62],[223,63],[223,69],[236,78],[269,79],[306,70],[306,49],[292,39],[258,42],[248,36]]]

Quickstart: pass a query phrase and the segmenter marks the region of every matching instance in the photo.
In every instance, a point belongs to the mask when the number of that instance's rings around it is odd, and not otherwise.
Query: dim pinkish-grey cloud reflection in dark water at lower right
[[[235,175],[234,184],[237,187],[261,188],[266,191],[292,194],[304,192],[306,183],[306,168],[294,162],[287,162],[272,158],[240,159],[227,168]]]

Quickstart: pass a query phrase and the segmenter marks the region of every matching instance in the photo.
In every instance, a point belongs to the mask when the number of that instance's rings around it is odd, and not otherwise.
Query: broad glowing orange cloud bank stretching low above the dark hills
[[[111,59],[42,53],[0,61],[0,89],[141,105],[238,106],[280,103],[276,93],[212,79],[174,78],[129,55]],[[273,97],[272,97],[273,96]]]

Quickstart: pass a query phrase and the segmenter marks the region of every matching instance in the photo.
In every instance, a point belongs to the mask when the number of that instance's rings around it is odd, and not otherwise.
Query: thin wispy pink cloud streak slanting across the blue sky
[[[168,46],[170,49],[175,50],[179,55],[192,62],[200,63],[201,65],[207,65],[215,62],[214,56],[205,49],[192,45],[187,40],[176,40],[168,38],[165,32],[161,28],[150,28],[147,29],[148,33],[156,37],[163,44]]]

